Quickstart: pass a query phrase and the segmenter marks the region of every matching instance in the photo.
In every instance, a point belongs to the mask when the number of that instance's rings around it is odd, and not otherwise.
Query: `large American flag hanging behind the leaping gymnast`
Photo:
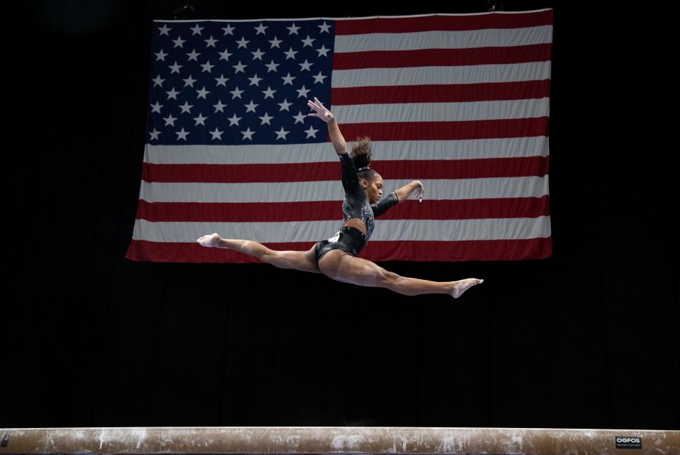
[[[316,96],[351,147],[373,140],[385,194],[373,261],[552,253],[548,120],[553,11],[155,21],[147,140],[126,257],[257,262],[201,235],[309,249],[339,230],[344,190]]]

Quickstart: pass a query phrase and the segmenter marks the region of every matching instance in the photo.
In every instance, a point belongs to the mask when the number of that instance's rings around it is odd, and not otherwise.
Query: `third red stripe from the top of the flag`
[[[438,84],[372,86],[332,89],[332,106],[390,103],[466,103],[508,99],[536,99],[550,96],[550,79],[490,84]]]

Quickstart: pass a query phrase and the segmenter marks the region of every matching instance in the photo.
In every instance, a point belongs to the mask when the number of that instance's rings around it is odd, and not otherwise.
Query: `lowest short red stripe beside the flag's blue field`
[[[465,140],[548,135],[549,117],[465,122],[345,123],[344,137],[370,136],[373,140]],[[327,140],[329,140],[327,138]]]

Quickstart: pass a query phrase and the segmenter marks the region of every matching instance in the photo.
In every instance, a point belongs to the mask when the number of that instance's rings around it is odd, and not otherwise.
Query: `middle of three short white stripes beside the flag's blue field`
[[[336,69],[331,87],[486,84],[550,79],[550,61],[514,64],[474,64],[456,67]]]

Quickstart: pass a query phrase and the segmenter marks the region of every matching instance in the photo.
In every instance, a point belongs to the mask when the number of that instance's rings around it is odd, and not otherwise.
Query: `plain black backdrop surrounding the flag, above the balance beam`
[[[553,35],[553,257],[380,263],[485,279],[458,300],[268,264],[128,261],[151,20],[184,1],[5,6],[0,427],[679,428],[676,131],[656,106],[676,91],[656,36],[669,12],[564,3]],[[194,18],[486,8],[191,4]],[[505,2],[543,7],[553,4]]]

